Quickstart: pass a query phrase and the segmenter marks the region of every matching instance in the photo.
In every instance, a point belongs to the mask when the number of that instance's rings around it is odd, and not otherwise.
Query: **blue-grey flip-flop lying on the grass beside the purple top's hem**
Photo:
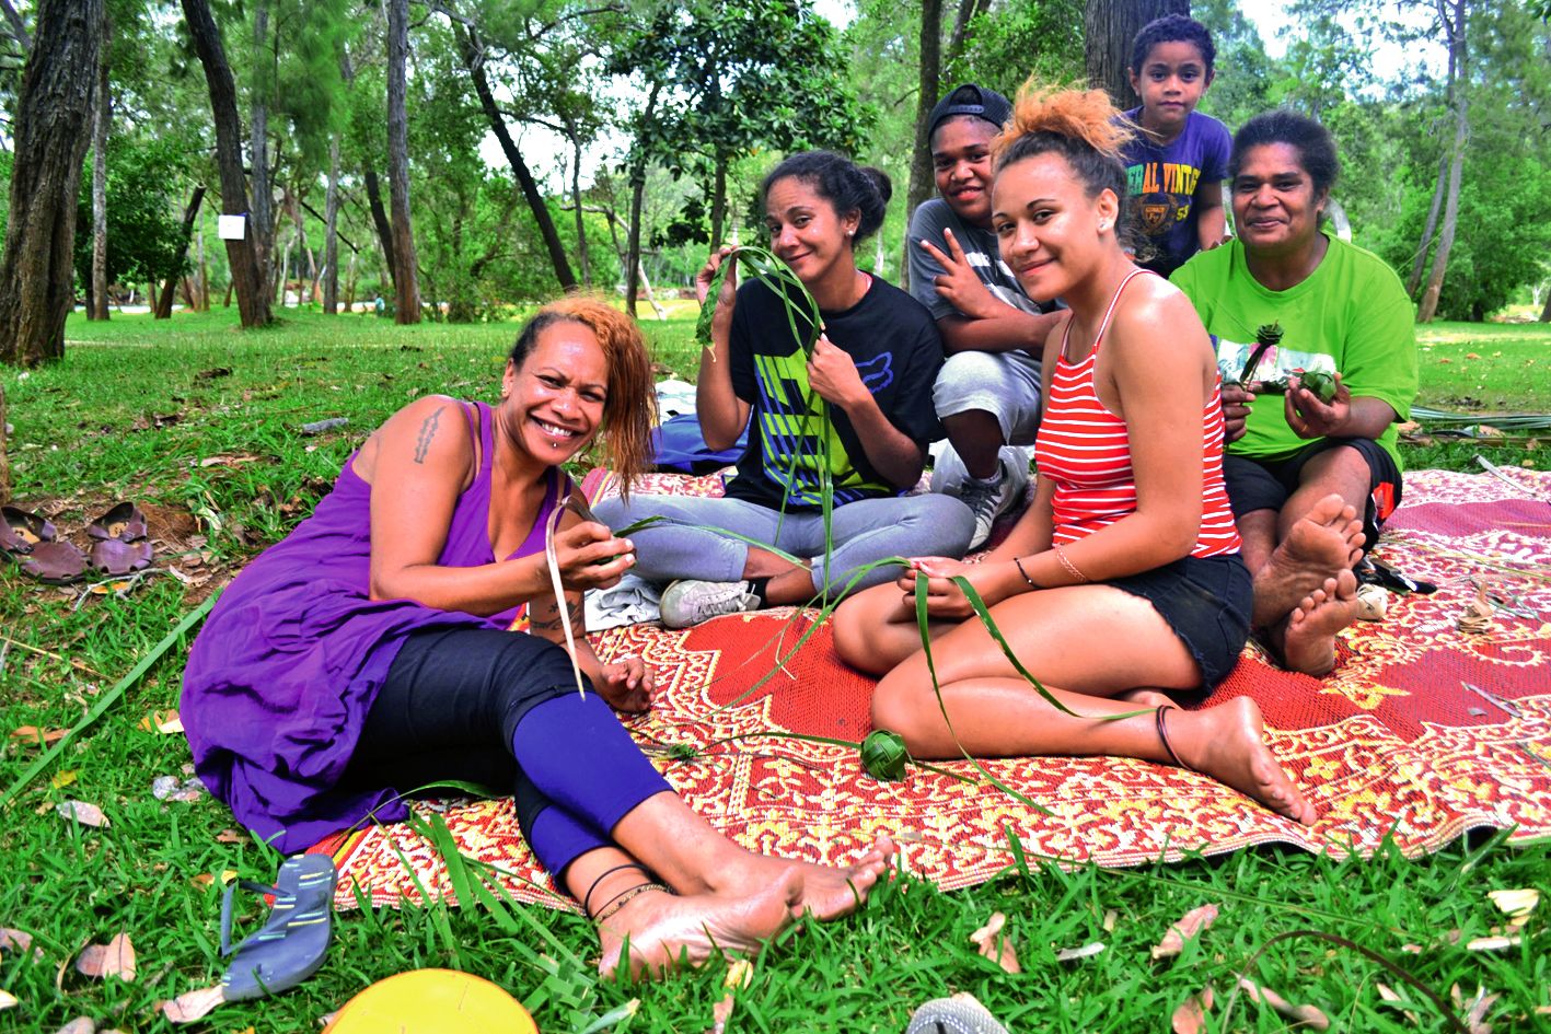
[[[267,998],[290,991],[323,966],[333,925],[340,873],[327,854],[296,854],[281,863],[275,887],[237,881],[220,902],[220,953],[233,955],[220,978],[226,1001]],[[231,898],[237,887],[275,894],[264,929],[231,947]]]

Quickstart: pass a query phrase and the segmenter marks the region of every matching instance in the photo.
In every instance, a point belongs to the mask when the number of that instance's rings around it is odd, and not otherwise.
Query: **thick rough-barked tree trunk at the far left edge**
[[[104,47],[102,0],[40,0],[9,129],[11,208],[0,259],[0,361],[65,353],[74,307],[76,200],[92,141],[92,91]]]

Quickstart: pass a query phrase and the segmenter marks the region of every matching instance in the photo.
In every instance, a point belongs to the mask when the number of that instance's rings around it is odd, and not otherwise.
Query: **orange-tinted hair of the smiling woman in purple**
[[[651,388],[651,358],[641,327],[624,312],[605,301],[571,295],[549,302],[527,321],[512,353],[521,367],[538,343],[538,335],[557,322],[579,322],[597,338],[608,364],[608,398],[603,402],[603,423],[599,434],[610,470],[619,474],[620,493],[651,467],[651,426],[658,417],[658,397]],[[596,443],[594,446],[596,448]]]

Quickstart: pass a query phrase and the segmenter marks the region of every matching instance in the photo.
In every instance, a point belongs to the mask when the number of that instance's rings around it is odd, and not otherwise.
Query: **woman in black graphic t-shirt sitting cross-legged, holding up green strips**
[[[729,448],[749,429],[726,498],[599,505],[613,527],[668,518],[634,535],[636,574],[676,580],[662,594],[664,625],[834,597],[896,578],[900,567],[862,574],[886,557],[960,557],[968,547],[968,507],[901,495],[920,479],[927,442],[940,437],[932,381],[943,349],[920,302],[856,268],[856,243],[883,225],[889,189],[883,172],[824,150],[793,155],[765,178],[771,251],[817,301],[822,333],[807,357],[783,301],[758,281],[738,287],[729,270],[696,384],[707,445]],[[720,248],[700,271],[701,304],[718,267],[735,260],[731,251]],[[796,330],[811,327],[797,316]],[[824,467],[834,499],[828,547]]]

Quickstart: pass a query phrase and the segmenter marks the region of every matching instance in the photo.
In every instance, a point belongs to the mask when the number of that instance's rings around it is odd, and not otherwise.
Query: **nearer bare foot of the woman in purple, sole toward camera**
[[[684,963],[700,966],[717,952],[752,955],[793,921],[800,899],[796,868],[741,898],[644,893],[599,925],[603,958],[597,969],[613,977],[627,964],[631,977],[661,977]]]

